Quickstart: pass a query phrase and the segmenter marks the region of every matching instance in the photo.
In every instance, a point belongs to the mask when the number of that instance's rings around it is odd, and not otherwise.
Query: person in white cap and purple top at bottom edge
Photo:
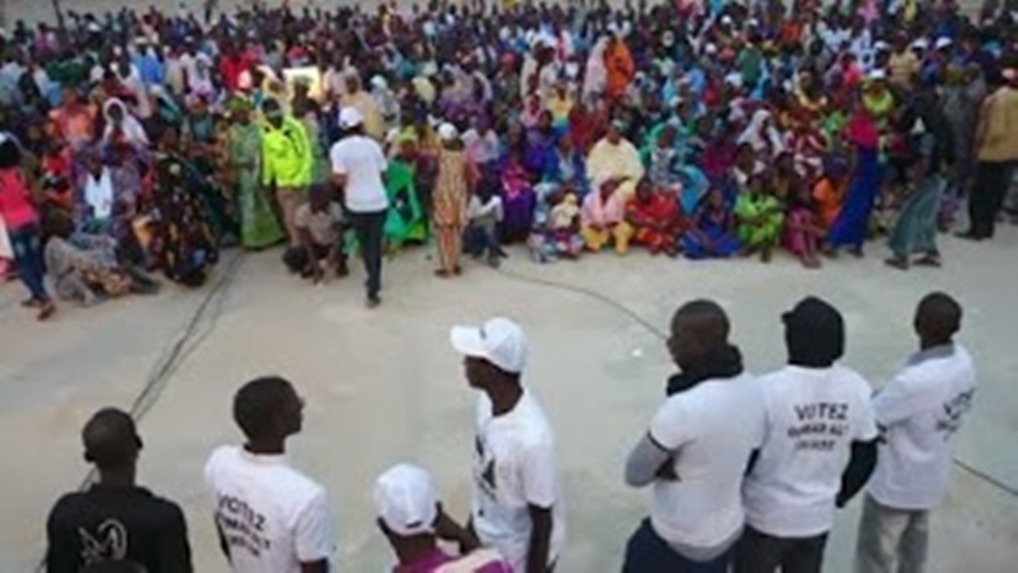
[[[455,558],[438,546],[441,537],[459,540],[464,530],[442,510],[432,476],[410,464],[396,465],[375,482],[379,528],[389,539],[398,563],[393,573],[510,573],[509,564],[493,550]]]

